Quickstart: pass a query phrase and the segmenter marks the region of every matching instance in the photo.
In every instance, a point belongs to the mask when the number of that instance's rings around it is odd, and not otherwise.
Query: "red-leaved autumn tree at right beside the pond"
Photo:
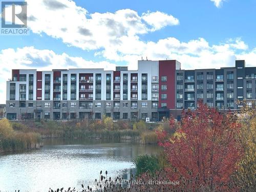
[[[170,129],[174,122],[170,120]],[[233,114],[220,114],[202,102],[197,110],[183,113],[176,133],[160,143],[173,167],[172,178],[179,180],[182,176],[193,183],[189,186],[195,191],[225,186],[242,156],[236,140],[240,127]]]

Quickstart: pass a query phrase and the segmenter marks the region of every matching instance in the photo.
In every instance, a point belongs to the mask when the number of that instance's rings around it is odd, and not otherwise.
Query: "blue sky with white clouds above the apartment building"
[[[11,69],[256,66],[255,0],[27,0],[27,36],[0,36],[0,103]]]

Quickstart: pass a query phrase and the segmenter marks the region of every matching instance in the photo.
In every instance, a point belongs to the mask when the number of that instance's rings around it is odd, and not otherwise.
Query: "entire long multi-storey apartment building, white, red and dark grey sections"
[[[256,67],[181,70],[177,60],[140,60],[138,70],[117,67],[69,70],[12,70],[7,81],[8,119],[161,120],[203,99],[220,110],[239,110],[237,100],[255,100]]]

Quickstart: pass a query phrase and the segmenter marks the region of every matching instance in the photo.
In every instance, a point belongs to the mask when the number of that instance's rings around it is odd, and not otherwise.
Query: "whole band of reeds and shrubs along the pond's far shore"
[[[157,144],[162,123],[84,119],[79,121],[0,120],[0,153],[39,149],[44,139],[101,139]]]

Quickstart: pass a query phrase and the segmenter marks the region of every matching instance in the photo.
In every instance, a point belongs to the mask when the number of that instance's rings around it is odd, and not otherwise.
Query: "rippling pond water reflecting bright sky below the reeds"
[[[81,188],[98,180],[100,170],[108,177],[130,178],[137,155],[156,154],[157,145],[102,140],[45,140],[40,150],[0,155],[0,191],[48,191],[49,188]]]

